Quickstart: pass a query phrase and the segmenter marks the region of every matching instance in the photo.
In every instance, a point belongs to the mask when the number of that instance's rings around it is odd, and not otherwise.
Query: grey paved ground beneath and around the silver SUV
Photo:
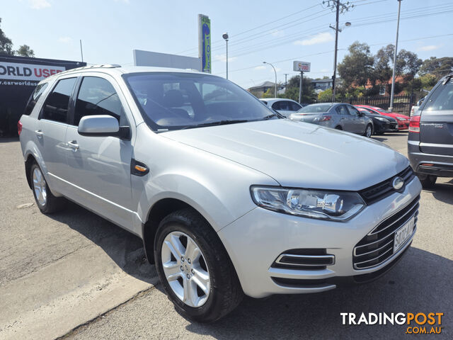
[[[406,154],[407,133],[375,137]],[[69,204],[42,215],[18,140],[0,139],[0,339],[400,339],[406,325],[343,325],[340,312],[442,312],[453,338],[453,180],[423,191],[411,249],[382,278],[314,295],[246,297],[214,324],[180,317],[139,238]]]

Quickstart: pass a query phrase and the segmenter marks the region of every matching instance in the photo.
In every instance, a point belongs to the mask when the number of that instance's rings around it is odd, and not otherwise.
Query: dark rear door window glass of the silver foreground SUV
[[[42,110],[42,119],[67,123],[69,98],[71,98],[75,84],[76,78],[67,78],[58,81],[57,86],[55,86],[47,97]]]

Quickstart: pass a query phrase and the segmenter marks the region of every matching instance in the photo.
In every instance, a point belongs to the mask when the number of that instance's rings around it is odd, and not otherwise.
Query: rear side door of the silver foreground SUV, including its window
[[[59,79],[53,86],[38,116],[38,130],[35,130],[38,145],[44,161],[49,186],[59,193],[66,194],[69,171],[66,162],[68,127],[71,94],[76,77]]]

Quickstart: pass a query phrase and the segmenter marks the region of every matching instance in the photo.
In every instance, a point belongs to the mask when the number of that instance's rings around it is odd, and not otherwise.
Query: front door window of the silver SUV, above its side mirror
[[[74,125],[78,126],[86,115],[111,115],[120,126],[127,124],[125,111],[122,108],[117,92],[107,79],[84,77],[76,99]]]

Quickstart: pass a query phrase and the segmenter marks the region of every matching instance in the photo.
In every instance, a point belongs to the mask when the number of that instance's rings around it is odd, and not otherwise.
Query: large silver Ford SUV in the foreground
[[[40,210],[69,198],[143,239],[181,314],[318,293],[393,266],[420,181],[365,137],[280,119],[211,74],[84,67],[40,82],[18,132]]]

